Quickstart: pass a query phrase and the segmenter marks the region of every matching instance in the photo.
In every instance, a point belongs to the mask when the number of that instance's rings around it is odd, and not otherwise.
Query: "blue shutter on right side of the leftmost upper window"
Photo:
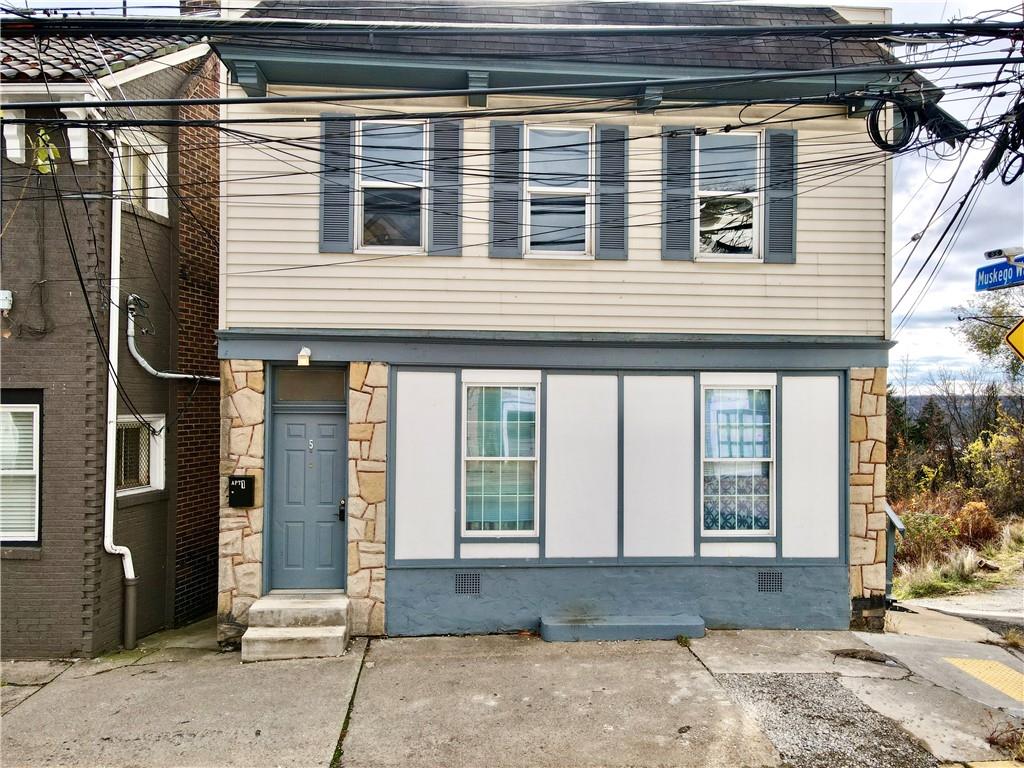
[[[427,253],[462,252],[462,121],[430,122],[429,230]]]

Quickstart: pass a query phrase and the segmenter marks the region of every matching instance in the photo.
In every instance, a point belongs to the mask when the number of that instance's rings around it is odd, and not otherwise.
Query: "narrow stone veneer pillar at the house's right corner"
[[[885,505],[886,369],[855,368],[850,372],[850,597],[855,623],[877,618],[873,613],[885,597]],[[858,611],[858,605],[870,607]]]

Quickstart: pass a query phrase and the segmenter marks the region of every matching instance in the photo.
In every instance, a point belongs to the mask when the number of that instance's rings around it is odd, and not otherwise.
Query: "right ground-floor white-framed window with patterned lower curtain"
[[[703,530],[771,532],[774,387],[702,387],[702,412]]]

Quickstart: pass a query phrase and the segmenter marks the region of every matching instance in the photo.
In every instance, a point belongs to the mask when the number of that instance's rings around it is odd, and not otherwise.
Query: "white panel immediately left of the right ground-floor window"
[[[623,381],[623,554],[693,554],[693,378]]]

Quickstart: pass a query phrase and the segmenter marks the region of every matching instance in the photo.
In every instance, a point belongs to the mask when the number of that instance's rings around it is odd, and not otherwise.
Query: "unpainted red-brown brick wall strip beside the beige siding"
[[[219,62],[213,56],[193,73],[181,96],[216,97]],[[216,106],[182,106],[182,119],[217,117]],[[216,376],[217,271],[220,228],[220,153],[215,128],[178,130],[177,368]],[[212,613],[217,605],[220,392],[215,386],[177,386],[185,409],[177,429],[174,622]],[[185,408],[187,406],[187,408]]]

